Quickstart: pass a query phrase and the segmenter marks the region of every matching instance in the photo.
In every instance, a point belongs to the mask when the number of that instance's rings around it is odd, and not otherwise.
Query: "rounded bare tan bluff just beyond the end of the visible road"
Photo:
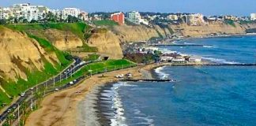
[[[111,31],[96,32],[88,39],[89,46],[96,46],[98,53],[111,59],[122,58],[122,48],[118,36]]]

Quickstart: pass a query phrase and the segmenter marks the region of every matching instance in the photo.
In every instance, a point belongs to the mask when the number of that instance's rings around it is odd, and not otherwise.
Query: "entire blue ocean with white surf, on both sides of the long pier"
[[[255,63],[256,36],[189,39],[161,50],[218,63]],[[158,78],[176,82],[119,82],[101,87],[98,108],[106,125],[256,125],[255,66],[164,66]]]

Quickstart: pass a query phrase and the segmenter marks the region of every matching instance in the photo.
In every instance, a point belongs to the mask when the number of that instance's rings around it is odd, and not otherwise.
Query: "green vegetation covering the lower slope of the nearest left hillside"
[[[36,39],[38,43],[40,43],[40,46],[43,47],[44,50],[46,50],[48,53],[55,52],[55,54],[58,57],[58,61],[60,61],[60,64],[55,62],[55,65],[52,65],[50,62],[48,62],[46,59],[43,58],[44,66],[41,71],[40,70],[34,70],[30,71],[26,69],[26,75],[28,80],[23,80],[21,78],[18,78],[17,82],[14,82],[13,80],[9,80],[8,82],[6,80],[2,80],[1,86],[3,89],[6,90],[6,93],[10,95],[12,98],[17,97],[21,92],[24,92],[30,87],[35,86],[38,83],[41,83],[52,76],[57,75],[59,72],[62,71],[62,69],[65,69],[68,65],[71,63],[70,54],[66,54],[57,48],[53,46],[50,42],[48,42],[45,39],[40,39],[39,37],[35,35],[28,35],[32,39]],[[8,98],[8,96],[0,91],[0,105],[3,104],[9,104],[12,101],[11,98]],[[1,109],[0,106],[0,109]]]

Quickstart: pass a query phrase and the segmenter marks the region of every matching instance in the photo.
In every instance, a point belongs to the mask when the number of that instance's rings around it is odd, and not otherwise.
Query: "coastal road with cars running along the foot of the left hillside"
[[[23,97],[18,98],[17,102],[13,103],[3,113],[1,113],[0,124],[2,124],[1,123],[2,121],[7,119],[9,113],[17,111],[18,105],[21,105],[21,103],[28,101],[29,99],[32,99],[34,92],[40,91],[45,87],[55,86],[55,83],[60,82],[62,80],[66,80],[68,77],[72,76],[74,72],[77,72],[78,69],[81,69],[84,65],[92,62],[92,61],[89,61],[89,62],[82,61],[81,58],[79,57],[73,57],[73,60],[74,60],[73,64],[70,65],[68,68],[66,68],[63,72],[59,73],[58,76],[55,76],[43,83],[37,84],[35,87],[32,87],[27,91],[25,91]],[[14,114],[14,117],[17,117],[17,114]]]

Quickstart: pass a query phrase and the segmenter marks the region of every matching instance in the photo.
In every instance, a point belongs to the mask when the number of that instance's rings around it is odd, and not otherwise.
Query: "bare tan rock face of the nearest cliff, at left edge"
[[[58,63],[55,53],[47,53],[34,39],[0,26],[0,78],[27,80],[26,71],[43,70],[44,61]]]

